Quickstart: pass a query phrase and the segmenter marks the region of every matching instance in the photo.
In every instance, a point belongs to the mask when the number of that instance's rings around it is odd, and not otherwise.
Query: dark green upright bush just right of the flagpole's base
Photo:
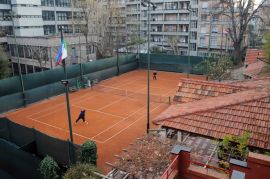
[[[81,146],[81,162],[97,165],[97,146],[96,143],[87,140]]]

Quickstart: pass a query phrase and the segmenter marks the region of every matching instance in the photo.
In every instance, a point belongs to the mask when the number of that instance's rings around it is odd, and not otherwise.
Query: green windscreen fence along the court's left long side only
[[[119,58],[111,57],[95,60],[83,64],[67,66],[67,77],[70,86],[75,86],[81,73],[89,80],[104,80],[118,74],[138,68],[136,55],[120,55]],[[0,113],[22,107],[25,96],[26,104],[31,104],[42,99],[59,95],[65,92],[65,87],[60,83],[65,79],[63,68],[47,70],[38,73],[23,75],[24,95],[20,78],[18,76],[0,80]]]

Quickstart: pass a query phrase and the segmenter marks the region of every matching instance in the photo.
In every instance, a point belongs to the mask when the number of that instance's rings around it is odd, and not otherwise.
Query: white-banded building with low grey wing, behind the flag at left
[[[73,1],[0,0],[0,43],[10,52],[13,74],[18,74],[18,64],[24,74],[55,68],[60,26],[68,45],[67,64],[96,58],[94,46],[87,46],[80,33],[84,22],[75,18],[82,12]]]

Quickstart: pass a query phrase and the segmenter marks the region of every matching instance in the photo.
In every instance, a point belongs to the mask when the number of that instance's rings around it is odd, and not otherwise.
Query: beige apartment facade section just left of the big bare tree
[[[198,56],[226,53],[232,50],[228,28],[230,20],[221,14],[220,1],[200,0],[198,21]]]

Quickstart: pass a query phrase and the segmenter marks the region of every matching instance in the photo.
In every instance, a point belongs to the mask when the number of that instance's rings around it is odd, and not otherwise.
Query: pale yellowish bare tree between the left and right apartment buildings
[[[106,4],[96,0],[75,0],[74,6],[82,12],[81,16],[73,20],[80,24],[86,45],[93,45],[99,58],[112,56],[116,46],[112,26],[121,22],[117,3],[114,0]]]

